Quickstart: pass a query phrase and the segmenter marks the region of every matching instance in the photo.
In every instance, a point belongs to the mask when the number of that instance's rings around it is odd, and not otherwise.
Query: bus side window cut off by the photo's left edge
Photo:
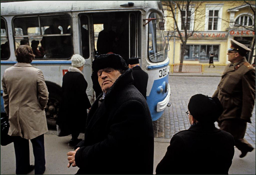
[[[1,18],[1,60],[7,60],[10,57],[10,48],[6,30],[6,22]]]

